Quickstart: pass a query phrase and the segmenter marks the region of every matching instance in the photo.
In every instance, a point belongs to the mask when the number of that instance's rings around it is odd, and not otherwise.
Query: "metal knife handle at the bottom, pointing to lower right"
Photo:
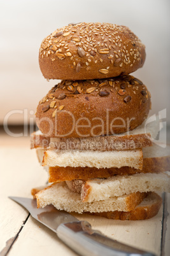
[[[155,256],[103,236],[86,221],[60,224],[56,232],[67,246],[82,256]]]

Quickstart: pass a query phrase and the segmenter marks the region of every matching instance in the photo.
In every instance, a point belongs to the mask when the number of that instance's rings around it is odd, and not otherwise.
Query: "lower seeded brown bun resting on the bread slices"
[[[150,110],[150,93],[130,75],[62,80],[41,99],[39,130],[48,137],[81,138],[131,131]]]

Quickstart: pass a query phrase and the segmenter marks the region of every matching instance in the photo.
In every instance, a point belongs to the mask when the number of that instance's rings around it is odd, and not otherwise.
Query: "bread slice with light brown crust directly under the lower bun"
[[[31,148],[94,151],[144,148],[152,146],[152,139],[156,138],[161,128],[158,117],[148,124],[146,124],[147,120],[129,132],[89,138],[49,138],[41,131],[36,131],[31,134]]]

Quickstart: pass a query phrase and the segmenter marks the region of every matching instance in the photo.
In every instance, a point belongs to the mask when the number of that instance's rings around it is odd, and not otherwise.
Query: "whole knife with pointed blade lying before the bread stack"
[[[57,236],[79,255],[155,256],[153,253],[107,238],[101,232],[93,230],[89,222],[80,221],[66,211],[57,210],[52,205],[38,209],[36,199],[25,197],[10,197],[10,199],[24,206],[33,218],[56,232]]]

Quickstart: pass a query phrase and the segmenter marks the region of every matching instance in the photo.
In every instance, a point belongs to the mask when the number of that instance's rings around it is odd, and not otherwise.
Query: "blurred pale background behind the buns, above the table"
[[[133,75],[152,94],[150,115],[166,109],[169,127],[169,0],[1,0],[1,131],[4,120],[11,127],[33,124],[39,100],[58,82],[43,78],[39,46],[48,34],[71,22],[127,25],[141,39],[146,46],[146,61]]]

